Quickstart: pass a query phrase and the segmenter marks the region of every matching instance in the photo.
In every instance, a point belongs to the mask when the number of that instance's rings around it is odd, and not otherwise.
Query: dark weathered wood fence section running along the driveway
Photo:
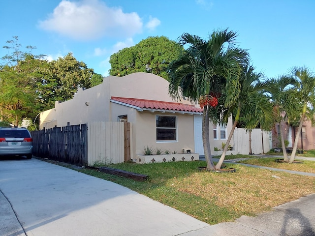
[[[88,164],[87,124],[32,131],[33,155],[74,165]]]

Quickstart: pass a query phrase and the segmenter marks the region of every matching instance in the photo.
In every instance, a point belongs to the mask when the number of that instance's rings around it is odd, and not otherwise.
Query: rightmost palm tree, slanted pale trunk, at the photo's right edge
[[[301,104],[300,123],[295,135],[294,145],[289,162],[293,162],[299,141],[299,133],[302,130],[304,120],[314,120],[315,105],[315,77],[314,74],[306,67],[293,67],[290,70],[291,77],[296,80],[297,86],[293,89],[294,99]]]

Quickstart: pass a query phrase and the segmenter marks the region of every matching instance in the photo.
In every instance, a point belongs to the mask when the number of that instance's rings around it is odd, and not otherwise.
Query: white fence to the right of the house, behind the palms
[[[252,130],[252,153],[261,154],[270,150],[271,132],[262,131],[261,129]],[[250,134],[246,129],[235,128],[233,135],[233,151],[239,154],[250,153]]]

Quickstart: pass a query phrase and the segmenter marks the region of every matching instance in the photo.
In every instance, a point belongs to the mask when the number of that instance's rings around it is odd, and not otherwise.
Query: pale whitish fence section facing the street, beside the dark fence
[[[124,122],[88,123],[88,165],[124,162]]]

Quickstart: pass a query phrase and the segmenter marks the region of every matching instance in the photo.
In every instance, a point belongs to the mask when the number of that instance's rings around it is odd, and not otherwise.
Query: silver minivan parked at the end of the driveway
[[[0,127],[0,155],[32,158],[33,139],[26,128]]]

